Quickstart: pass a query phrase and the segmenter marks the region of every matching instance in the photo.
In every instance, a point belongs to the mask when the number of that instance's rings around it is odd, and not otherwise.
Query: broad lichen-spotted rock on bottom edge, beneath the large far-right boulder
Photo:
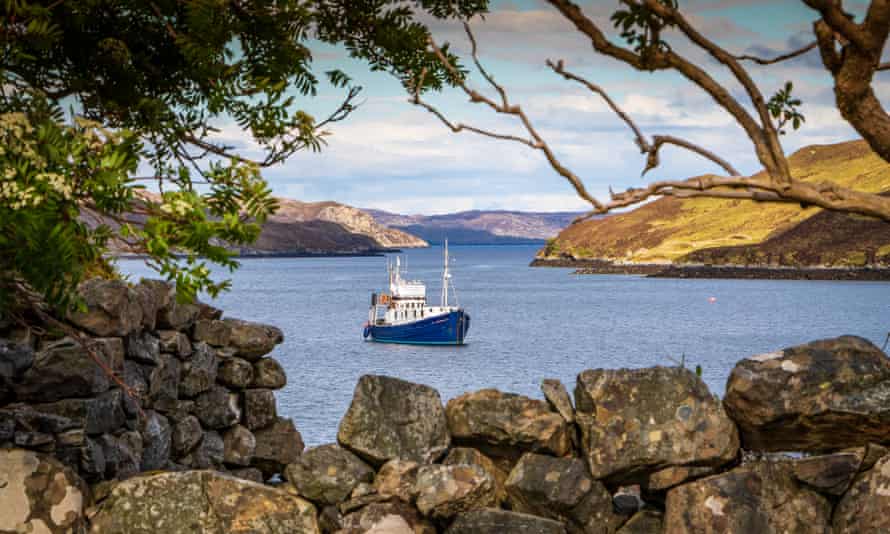
[[[831,503],[790,462],[758,461],[668,491],[664,532],[827,534],[830,521]]]

